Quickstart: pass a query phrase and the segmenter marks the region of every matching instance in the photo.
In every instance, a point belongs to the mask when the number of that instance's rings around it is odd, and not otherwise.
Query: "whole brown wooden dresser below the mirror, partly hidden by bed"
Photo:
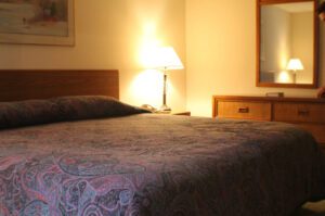
[[[299,125],[325,150],[325,99],[213,96],[213,117]]]

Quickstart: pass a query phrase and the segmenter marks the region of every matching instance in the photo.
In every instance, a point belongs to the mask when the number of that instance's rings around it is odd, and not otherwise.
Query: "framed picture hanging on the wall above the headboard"
[[[0,42],[74,46],[74,0],[0,0]]]

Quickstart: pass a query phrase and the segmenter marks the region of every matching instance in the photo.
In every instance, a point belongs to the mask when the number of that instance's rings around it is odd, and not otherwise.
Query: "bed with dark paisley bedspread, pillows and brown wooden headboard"
[[[114,99],[117,71],[0,77],[1,216],[286,216],[325,196],[292,125],[152,114]]]

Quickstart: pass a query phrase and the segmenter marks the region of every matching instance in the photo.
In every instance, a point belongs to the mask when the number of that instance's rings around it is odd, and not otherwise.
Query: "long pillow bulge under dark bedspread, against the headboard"
[[[102,96],[0,102],[0,129],[138,113],[147,111]]]

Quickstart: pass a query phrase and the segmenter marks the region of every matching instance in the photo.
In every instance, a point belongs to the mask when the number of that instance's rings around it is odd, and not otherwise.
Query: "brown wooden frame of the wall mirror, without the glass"
[[[276,84],[260,81],[260,45],[261,45],[261,5],[277,3],[295,3],[295,2],[313,2],[314,4],[314,42],[313,42],[313,82],[312,84]],[[306,88],[314,89],[318,86],[318,17],[317,17],[317,0],[257,0],[257,68],[256,68],[256,86],[257,87],[282,87],[282,88]]]

